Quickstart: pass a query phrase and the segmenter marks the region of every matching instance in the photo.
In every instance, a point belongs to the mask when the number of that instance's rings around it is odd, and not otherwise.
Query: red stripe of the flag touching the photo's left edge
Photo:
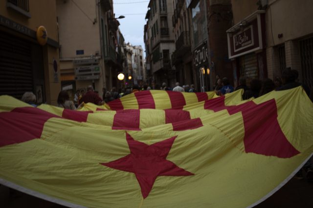
[[[33,107],[0,113],[0,147],[40,138],[45,122],[53,117],[59,116]]]

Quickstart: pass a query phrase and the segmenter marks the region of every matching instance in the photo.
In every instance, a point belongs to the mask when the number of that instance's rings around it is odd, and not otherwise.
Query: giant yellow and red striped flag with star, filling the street
[[[313,104],[301,87],[226,99],[156,108],[207,113],[130,129],[0,96],[0,183],[68,207],[253,207],[312,155]]]

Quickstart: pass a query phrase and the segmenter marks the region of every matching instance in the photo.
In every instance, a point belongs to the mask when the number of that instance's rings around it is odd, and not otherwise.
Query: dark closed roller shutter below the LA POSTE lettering
[[[31,44],[0,31],[0,95],[33,92]]]

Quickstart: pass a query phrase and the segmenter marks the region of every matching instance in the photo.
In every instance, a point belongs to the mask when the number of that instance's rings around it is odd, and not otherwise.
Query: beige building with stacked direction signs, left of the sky
[[[111,89],[123,71],[124,38],[112,0],[56,0],[62,86]]]

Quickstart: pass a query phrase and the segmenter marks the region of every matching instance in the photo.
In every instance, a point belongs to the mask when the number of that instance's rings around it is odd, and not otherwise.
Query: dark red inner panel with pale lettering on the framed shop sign
[[[239,32],[233,36],[234,51],[240,51],[254,45],[253,25],[247,27],[243,32]]]

